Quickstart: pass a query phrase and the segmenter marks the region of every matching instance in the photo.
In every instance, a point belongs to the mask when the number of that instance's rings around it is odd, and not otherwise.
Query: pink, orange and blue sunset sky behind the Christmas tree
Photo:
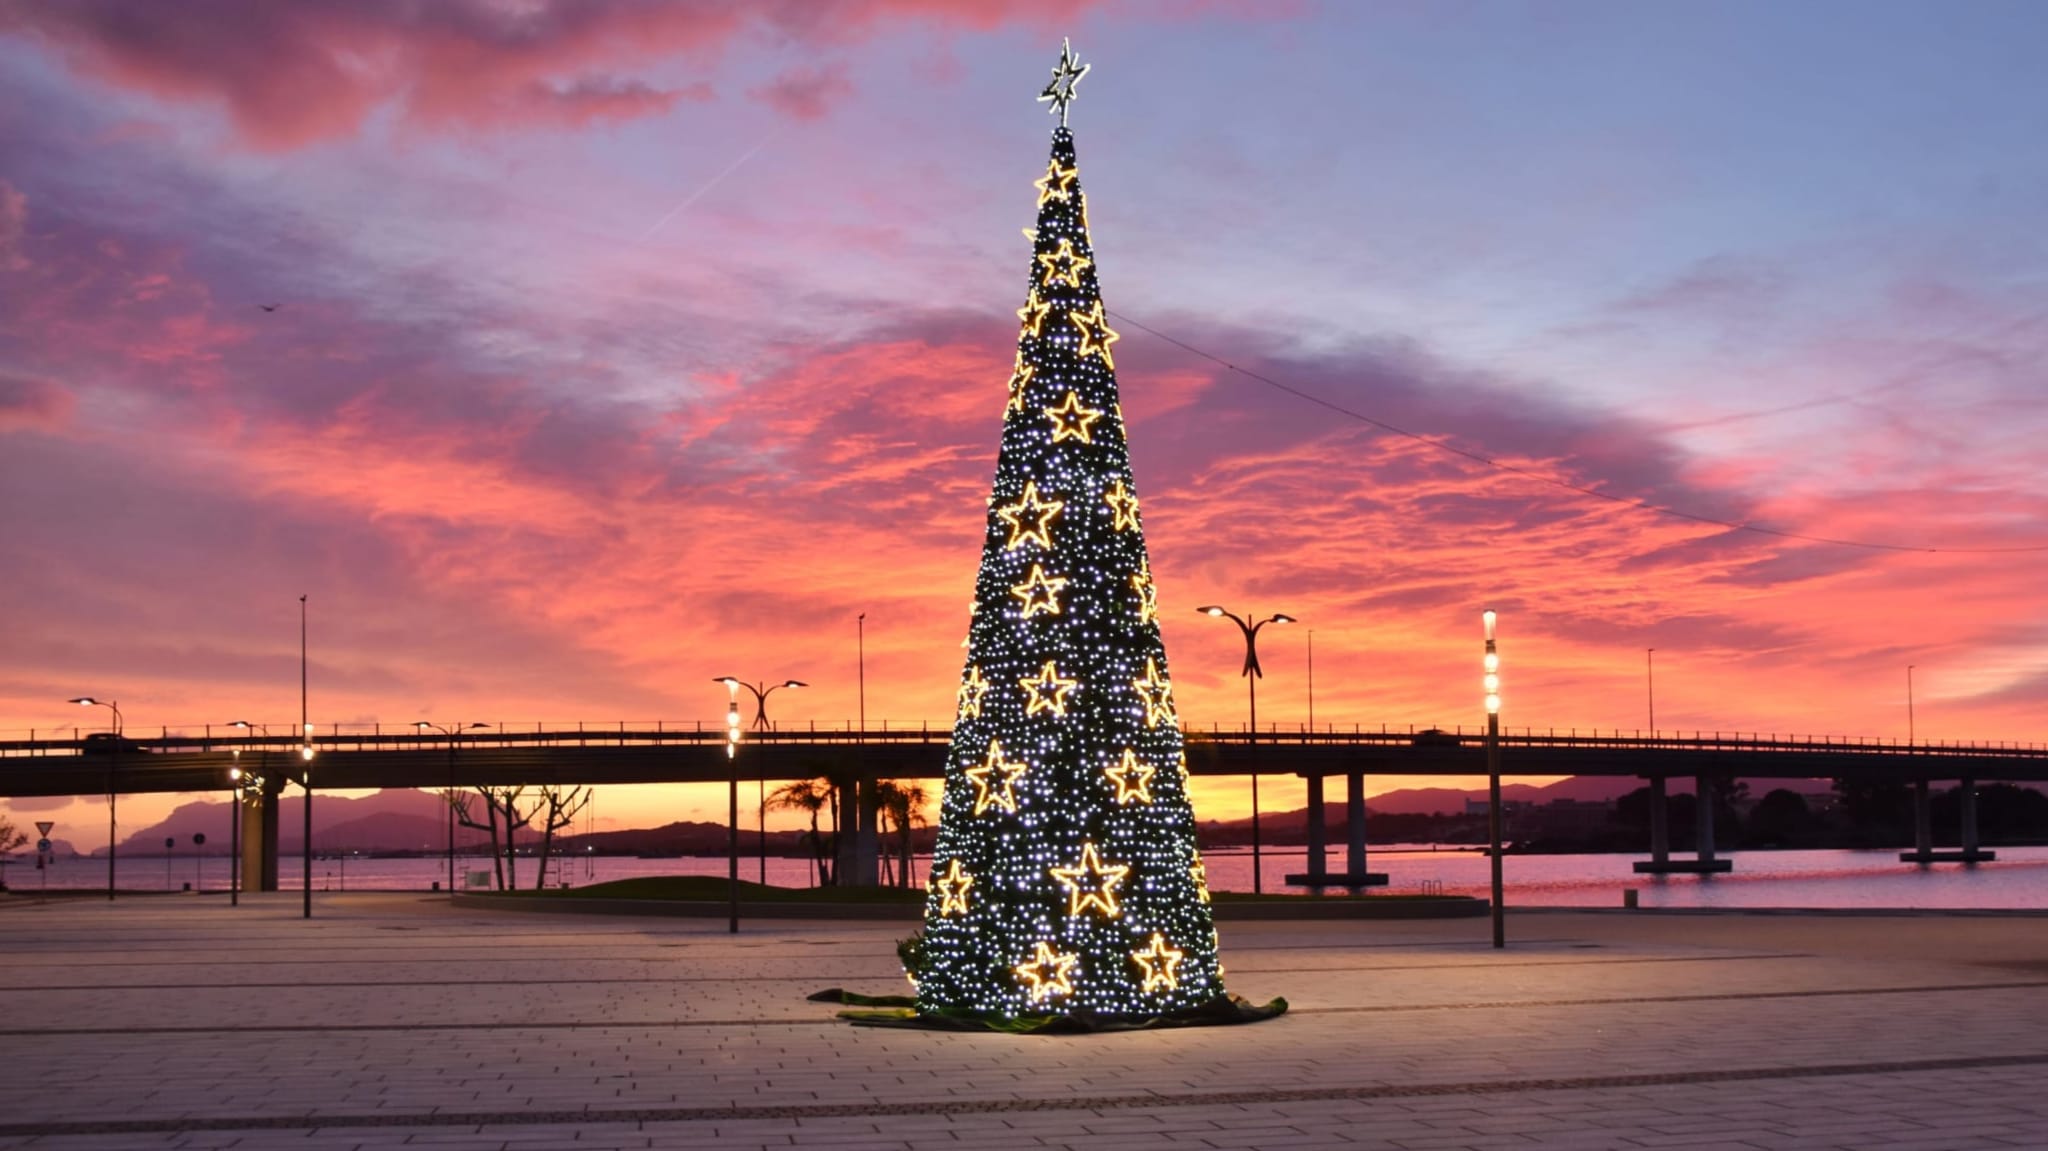
[[[0,0],[0,729],[948,723],[1061,37],[1188,723],[2048,739],[1991,0]]]

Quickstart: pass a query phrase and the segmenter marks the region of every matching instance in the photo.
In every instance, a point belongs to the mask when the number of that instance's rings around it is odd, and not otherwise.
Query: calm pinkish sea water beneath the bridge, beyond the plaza
[[[1640,856],[1507,856],[1505,883],[1509,905],[1550,907],[1618,907],[1624,889],[1636,889],[1645,907],[1997,907],[2048,909],[2048,848],[1997,848],[1999,860],[1976,866],[1898,862],[1898,850],[1882,852],[1741,852],[1731,854],[1735,870],[1716,877],[1642,877],[1630,870]],[[1219,891],[1251,889],[1251,852],[1206,852],[1208,881]],[[532,885],[530,858],[520,860],[520,887]],[[926,875],[926,858],[918,860],[918,879]],[[1341,852],[1331,852],[1333,866],[1343,864]],[[1386,891],[1444,891],[1452,895],[1485,895],[1489,885],[1487,858],[1466,850],[1376,850],[1372,870],[1389,875]],[[1266,891],[1284,891],[1282,877],[1307,870],[1307,858],[1292,852],[1264,852],[1262,875]],[[459,858],[457,870],[487,868],[485,858]],[[575,887],[631,879],[643,875],[725,875],[725,858],[573,858],[549,862],[549,885]],[[106,860],[59,860],[47,872],[35,868],[33,856],[4,868],[8,887],[33,893],[45,881],[51,889],[104,889]],[[442,858],[319,858],[313,860],[315,891],[426,891],[446,877]],[[741,858],[739,877],[762,879],[758,858]],[[768,883],[803,887],[811,883],[807,860],[768,858]],[[299,860],[281,866],[287,889],[299,889]],[[123,856],[119,864],[123,891],[178,891],[193,883],[203,891],[225,891],[227,860],[211,856],[166,860]]]

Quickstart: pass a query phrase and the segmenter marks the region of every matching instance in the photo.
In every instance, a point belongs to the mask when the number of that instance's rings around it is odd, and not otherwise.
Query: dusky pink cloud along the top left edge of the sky
[[[416,129],[563,127],[659,115],[707,100],[692,82],[657,88],[618,76],[676,55],[702,66],[748,31],[854,43],[889,20],[989,29],[1067,20],[1094,0],[1051,6],[854,0],[756,6],[739,0],[639,4],[535,0],[197,0],[4,4],[0,33],[55,45],[78,72],[172,102],[227,113],[248,147],[287,152],[354,135],[395,104]],[[844,94],[831,70],[768,88],[774,106],[815,117]]]

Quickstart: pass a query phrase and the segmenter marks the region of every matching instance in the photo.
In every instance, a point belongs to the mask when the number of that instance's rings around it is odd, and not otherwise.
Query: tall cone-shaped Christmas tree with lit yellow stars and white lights
[[[926,905],[922,1012],[1145,1018],[1223,995],[1065,104],[1038,188]]]

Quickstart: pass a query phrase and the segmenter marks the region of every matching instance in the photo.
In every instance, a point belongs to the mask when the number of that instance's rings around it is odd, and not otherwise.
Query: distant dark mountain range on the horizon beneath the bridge
[[[1614,776],[1573,776],[1552,784],[1522,784],[1509,782],[1501,784],[1501,799],[1516,803],[1552,803],[1559,799],[1571,799],[1577,803],[1608,803],[1630,791],[1642,786],[1636,778],[1614,778]],[[1761,797],[1772,788],[1790,788],[1802,795],[1829,795],[1829,780],[1753,780],[1751,795]],[[1681,795],[1692,791],[1692,780],[1671,780],[1671,793]],[[1366,809],[1382,815],[1458,815],[1464,811],[1466,801],[1485,799],[1485,788],[1450,788],[1450,786],[1419,786],[1419,788],[1399,788],[1374,795],[1366,801]],[[1343,801],[1346,788],[1341,778],[1331,778],[1323,791],[1323,813],[1331,827],[1343,825]],[[303,827],[303,799],[297,795],[287,795],[279,805],[279,852],[297,854],[301,850],[299,836]],[[174,852],[180,856],[193,854],[193,834],[205,834],[207,844],[201,854],[225,856],[229,846],[229,805],[225,801],[193,801],[178,805],[166,819],[131,832],[121,840],[123,856],[160,856],[164,854],[164,840],[176,840]],[[315,797],[313,801],[313,850],[315,852],[375,852],[375,854],[399,854],[399,852],[440,852],[449,844],[449,823],[446,807],[434,793],[426,791],[379,791],[377,795],[367,795],[360,799],[342,797]],[[1260,823],[1276,834],[1286,829],[1307,827],[1307,811],[1262,811]],[[1217,834],[1233,834],[1251,827],[1251,817],[1241,819],[1204,819],[1202,827]],[[539,842],[539,832],[526,827],[520,832],[520,846],[530,846]],[[483,832],[473,832],[469,827],[455,829],[457,848],[469,852],[479,850],[489,844]],[[928,850],[932,844],[932,829],[920,829],[918,848]],[[59,854],[68,854],[70,842],[53,842]],[[639,854],[639,856],[678,856],[678,854],[723,854],[727,848],[727,832],[723,823],[668,823],[662,827],[633,827],[618,832],[596,832],[590,836],[557,836],[557,850],[588,850],[596,848],[604,854]],[[739,850],[741,854],[756,854],[760,850],[760,840],[752,827],[739,829]],[[801,832],[770,832],[768,852],[784,856],[809,854],[809,846],[803,842]],[[92,848],[90,854],[106,854],[104,846]]]

